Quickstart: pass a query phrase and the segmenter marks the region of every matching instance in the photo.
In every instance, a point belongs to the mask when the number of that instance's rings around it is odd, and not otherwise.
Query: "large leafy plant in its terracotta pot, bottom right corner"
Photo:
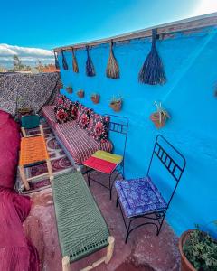
[[[213,221],[217,225],[217,221]],[[182,271],[216,271],[217,240],[196,226],[179,239]]]

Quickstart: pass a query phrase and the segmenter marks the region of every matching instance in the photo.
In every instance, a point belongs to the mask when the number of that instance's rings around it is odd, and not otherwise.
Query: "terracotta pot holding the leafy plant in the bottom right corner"
[[[192,232],[193,232],[193,230],[184,231],[182,236],[179,238],[179,252],[181,254],[181,271],[196,271],[196,269],[193,267],[193,265],[185,257],[184,251],[183,251],[184,243],[189,238],[190,233],[192,233]]]

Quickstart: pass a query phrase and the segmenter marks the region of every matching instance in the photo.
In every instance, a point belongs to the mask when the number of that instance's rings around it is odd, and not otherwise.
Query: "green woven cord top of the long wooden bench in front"
[[[71,262],[109,245],[109,229],[80,172],[52,182],[52,195],[62,257]]]

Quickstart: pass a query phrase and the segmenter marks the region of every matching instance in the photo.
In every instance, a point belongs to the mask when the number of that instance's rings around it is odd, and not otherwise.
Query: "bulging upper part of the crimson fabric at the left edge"
[[[19,126],[0,110],[0,187],[14,188],[19,148]]]

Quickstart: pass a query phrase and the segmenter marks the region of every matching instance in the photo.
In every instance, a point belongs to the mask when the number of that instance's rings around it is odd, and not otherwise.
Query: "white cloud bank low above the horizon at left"
[[[42,61],[42,63],[54,61],[53,51],[0,43],[0,65],[11,66],[14,55],[18,55],[19,59],[28,65],[35,64],[37,61]]]

